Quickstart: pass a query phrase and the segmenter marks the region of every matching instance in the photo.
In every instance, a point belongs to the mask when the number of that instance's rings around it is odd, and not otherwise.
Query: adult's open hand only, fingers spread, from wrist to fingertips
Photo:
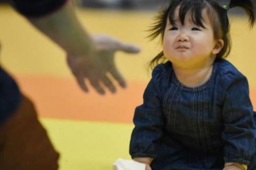
[[[104,94],[107,87],[112,93],[116,92],[114,80],[122,88],[126,83],[114,63],[114,54],[117,51],[138,53],[140,49],[132,44],[120,42],[107,35],[92,35],[95,50],[89,55],[67,54],[67,63],[71,68],[80,88],[88,92],[88,82],[100,94]],[[86,82],[88,80],[88,82]]]

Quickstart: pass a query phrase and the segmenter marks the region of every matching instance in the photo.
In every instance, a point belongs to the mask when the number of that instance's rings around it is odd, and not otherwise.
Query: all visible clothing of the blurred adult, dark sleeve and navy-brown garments
[[[6,1],[5,1],[6,2]],[[67,0],[14,0],[9,3],[26,17],[41,17]],[[1,49],[0,49],[1,50]],[[55,170],[59,153],[40,124],[34,105],[0,66],[0,169]]]

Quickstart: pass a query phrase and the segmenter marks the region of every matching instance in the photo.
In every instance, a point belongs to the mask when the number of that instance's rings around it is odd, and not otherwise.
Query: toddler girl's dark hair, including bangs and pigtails
[[[151,33],[148,38],[153,40],[160,35],[162,42],[167,19],[169,19],[172,25],[175,25],[174,11],[178,6],[180,6],[179,19],[182,25],[184,24],[186,14],[191,12],[192,22],[196,26],[205,28],[203,25],[204,18],[202,11],[206,10],[207,17],[210,19],[213,27],[214,38],[216,40],[223,39],[224,41],[224,46],[216,55],[216,59],[227,57],[231,50],[230,25],[227,16],[228,9],[234,7],[243,8],[249,16],[250,28],[252,28],[255,23],[255,8],[251,0],[231,0],[229,5],[224,7],[213,0],[171,0],[168,8],[159,11],[155,18],[156,22],[149,29]],[[149,67],[154,68],[157,64],[164,63],[166,60],[164,52],[161,51],[150,61]]]

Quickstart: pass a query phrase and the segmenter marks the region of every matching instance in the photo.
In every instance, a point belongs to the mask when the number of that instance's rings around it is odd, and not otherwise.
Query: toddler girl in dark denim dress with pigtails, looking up
[[[146,169],[256,169],[253,107],[247,78],[223,59],[230,52],[227,11],[250,0],[173,0],[152,38],[162,52],[136,107],[130,154]],[[166,62],[167,61],[167,62]],[[161,63],[161,64],[159,64]]]

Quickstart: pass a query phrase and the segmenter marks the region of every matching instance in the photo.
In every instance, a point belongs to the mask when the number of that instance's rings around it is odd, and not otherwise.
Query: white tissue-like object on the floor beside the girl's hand
[[[113,170],[145,170],[146,165],[133,160],[118,159],[113,164]]]

